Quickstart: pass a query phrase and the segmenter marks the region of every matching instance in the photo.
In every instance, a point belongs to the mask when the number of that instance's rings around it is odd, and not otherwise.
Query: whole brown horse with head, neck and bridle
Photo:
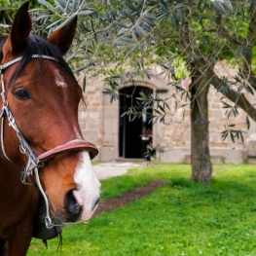
[[[78,122],[83,91],[65,55],[77,18],[48,39],[31,34],[28,2],[0,43],[0,255],[24,256],[32,237],[88,221],[100,183]]]

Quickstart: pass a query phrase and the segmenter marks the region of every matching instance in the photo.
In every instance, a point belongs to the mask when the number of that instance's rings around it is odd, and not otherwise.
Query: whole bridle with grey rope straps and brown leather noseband
[[[43,153],[42,155],[37,156],[36,153],[33,151],[33,149],[30,147],[30,145],[27,143],[26,139],[20,132],[16,120],[10,110],[7,96],[6,96],[6,88],[4,84],[4,70],[8,68],[9,66],[17,63],[20,61],[22,56],[19,56],[3,65],[0,65],[0,75],[1,75],[1,85],[2,85],[2,92],[1,92],[1,97],[3,101],[3,108],[0,117],[2,118],[2,125],[1,125],[1,134],[0,134],[0,139],[1,139],[1,148],[2,148],[2,153],[4,157],[13,163],[12,160],[10,160],[6,154],[5,146],[4,146],[4,122],[5,122],[5,117],[7,117],[9,121],[9,126],[14,128],[14,130],[17,133],[18,140],[19,140],[19,151],[26,155],[27,157],[27,163],[23,170],[21,171],[21,182],[23,184],[26,183],[27,177],[30,175],[34,174],[35,175],[35,180],[36,184],[38,186],[38,189],[40,190],[45,202],[46,202],[46,218],[45,218],[45,223],[46,227],[48,229],[51,229],[55,226],[55,224],[52,222],[52,219],[50,217],[50,207],[49,207],[49,201],[48,198],[42,188],[40,178],[39,178],[39,170],[43,167],[44,163],[47,161],[55,158],[55,156],[59,154],[64,154],[68,152],[74,152],[74,151],[88,151],[91,157],[91,160],[97,155],[98,150],[97,148],[91,144],[88,141],[85,141],[84,139],[74,139],[70,140],[62,145],[58,145],[55,148]],[[49,55],[32,55],[32,58],[43,58],[43,59],[50,59],[58,62],[58,60]]]

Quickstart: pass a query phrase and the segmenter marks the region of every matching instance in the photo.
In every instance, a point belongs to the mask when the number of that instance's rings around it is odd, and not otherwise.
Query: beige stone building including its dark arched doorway
[[[227,67],[216,67],[220,76],[225,73]],[[236,71],[230,69],[232,77]],[[174,88],[166,86],[164,78],[158,76],[158,68],[154,69],[150,80],[136,81],[133,85],[124,85],[123,96],[120,100],[110,103],[110,97],[102,93],[107,86],[103,79],[91,78],[88,80],[86,89],[87,106],[80,106],[79,120],[85,139],[94,143],[99,154],[96,160],[119,161],[124,159],[143,159],[146,145],[152,142],[154,146],[164,149],[160,160],[166,163],[189,163],[190,162],[190,110],[189,102],[182,102],[185,106],[178,107],[179,94]],[[134,122],[128,122],[128,117],[121,118],[122,113],[128,110],[131,102],[140,91],[146,93],[158,93],[160,97],[167,98],[176,93],[176,99],[169,97],[167,100],[170,110],[165,119],[165,124],[146,124],[143,117]],[[133,96],[130,96],[133,92]],[[256,125],[251,121],[251,128],[246,130],[246,114],[239,110],[236,118],[237,128],[244,130],[244,140],[233,143],[231,139],[223,141],[221,132],[227,126],[227,117],[221,103],[222,94],[211,88],[208,93],[208,116],[209,116],[209,147],[212,163],[243,163],[249,157],[254,160],[256,152]],[[252,98],[253,100],[253,98]],[[180,103],[180,105],[182,105]],[[146,124],[146,128],[145,128]],[[146,133],[145,133],[146,132]]]

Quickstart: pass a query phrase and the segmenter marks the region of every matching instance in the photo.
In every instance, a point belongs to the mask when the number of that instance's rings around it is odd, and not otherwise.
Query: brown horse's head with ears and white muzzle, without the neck
[[[100,183],[91,168],[97,150],[83,139],[78,123],[82,90],[62,57],[71,46],[77,19],[44,40],[30,34],[27,10],[28,2],[18,9],[1,47],[0,157],[21,169],[32,151],[51,217],[60,223],[87,221],[99,200]],[[22,152],[26,146],[28,152]],[[25,175],[36,183],[31,165]]]

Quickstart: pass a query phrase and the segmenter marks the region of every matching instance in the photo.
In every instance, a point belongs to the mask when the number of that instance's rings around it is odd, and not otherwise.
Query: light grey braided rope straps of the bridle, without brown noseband
[[[53,56],[48,55],[32,55],[33,58],[45,58],[45,59],[51,59],[57,61],[57,59]],[[18,140],[19,140],[19,151],[27,156],[27,164],[24,167],[23,174],[21,176],[21,182],[25,184],[26,177],[28,175],[31,175],[32,173],[35,174],[36,183],[38,186],[39,191],[41,192],[45,203],[46,203],[46,217],[45,217],[45,224],[48,229],[52,229],[55,224],[53,224],[52,219],[50,217],[50,207],[49,207],[49,201],[46,196],[46,193],[41,185],[38,169],[42,167],[42,163],[40,163],[40,160],[38,159],[37,155],[33,152],[32,148],[29,146],[29,144],[26,142],[25,138],[23,137],[22,133],[19,131],[18,126],[16,124],[15,118],[8,106],[8,100],[6,97],[6,91],[5,91],[5,84],[4,84],[4,78],[3,78],[3,70],[7,67],[13,65],[14,63],[21,60],[22,56],[19,56],[3,65],[0,65],[0,73],[1,73],[1,85],[2,85],[2,92],[1,97],[3,100],[3,108],[0,117],[2,118],[2,124],[1,124],[1,148],[4,157],[13,163],[12,160],[10,160],[6,154],[5,146],[4,146],[4,118],[7,116],[9,121],[9,126],[14,128],[17,132]]]

